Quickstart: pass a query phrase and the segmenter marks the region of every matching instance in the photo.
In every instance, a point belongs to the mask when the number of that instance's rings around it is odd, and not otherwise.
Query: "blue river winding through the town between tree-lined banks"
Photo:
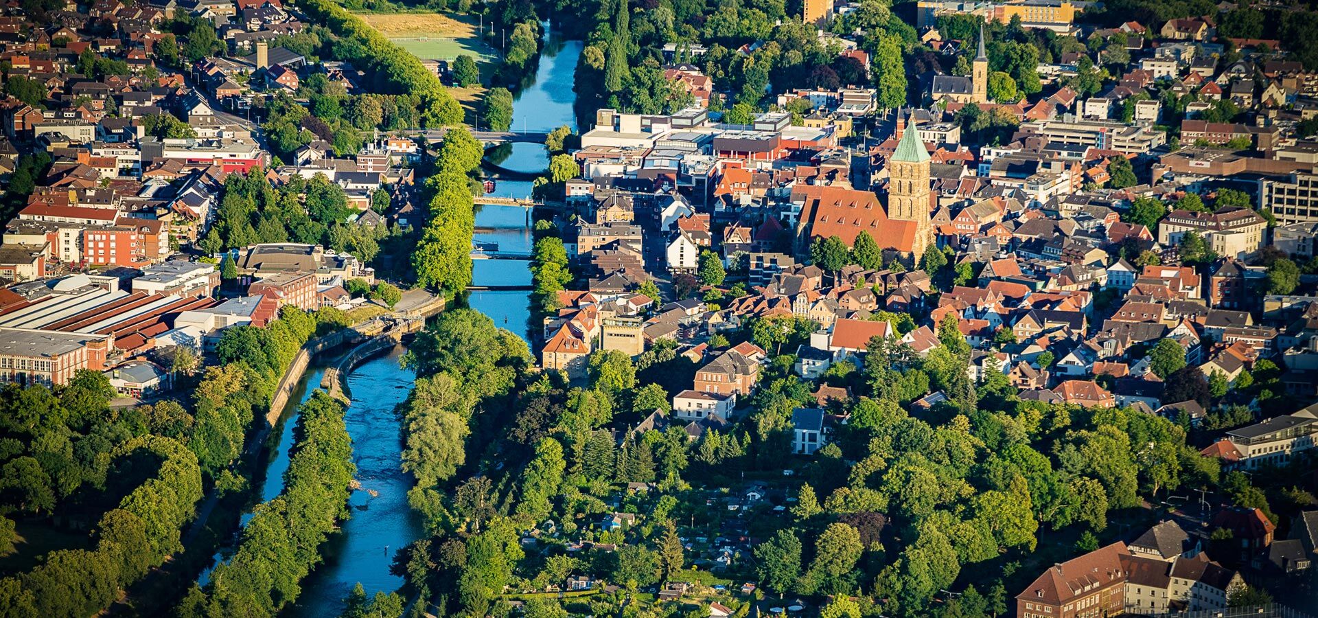
[[[576,126],[572,71],[580,54],[580,41],[561,41],[550,34],[534,82],[515,95],[514,130],[551,130],[564,124]],[[521,144],[505,165],[534,171],[543,170],[547,161],[543,146]],[[527,196],[530,192],[531,183],[521,181],[500,182],[496,191],[503,196]],[[530,253],[529,211],[511,206],[477,207],[474,240],[497,242],[501,252]],[[530,285],[529,265],[526,260],[498,258],[497,254],[492,260],[476,260],[472,281],[477,286]],[[529,324],[527,291],[476,291],[468,295],[467,304],[490,316],[496,325],[531,339],[529,335],[534,327]],[[286,611],[289,615],[337,615],[343,610],[343,598],[358,582],[368,596],[395,590],[403,584],[401,577],[389,573],[389,565],[398,548],[419,539],[424,531],[420,518],[407,506],[413,480],[399,468],[402,440],[394,407],[407,398],[415,379],[411,372],[398,365],[401,354],[402,348],[395,348],[389,356],[370,360],[348,376],[348,394],[352,397],[347,411],[348,434],[362,490],[353,492],[352,517],[343,523],[341,532],[326,543],[322,552],[324,564],[302,582],[302,596]],[[281,441],[279,452],[286,453],[289,443],[291,434]],[[287,463],[283,465],[286,468]],[[377,494],[370,495],[369,490]]]

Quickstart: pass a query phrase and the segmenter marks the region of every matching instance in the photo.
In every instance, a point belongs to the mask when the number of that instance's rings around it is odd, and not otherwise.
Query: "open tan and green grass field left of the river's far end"
[[[460,54],[476,58],[481,76],[494,70],[498,50],[480,37],[480,25],[465,16],[440,13],[360,13],[366,24],[416,58],[452,61]],[[451,88],[460,101],[471,101],[484,88]]]

